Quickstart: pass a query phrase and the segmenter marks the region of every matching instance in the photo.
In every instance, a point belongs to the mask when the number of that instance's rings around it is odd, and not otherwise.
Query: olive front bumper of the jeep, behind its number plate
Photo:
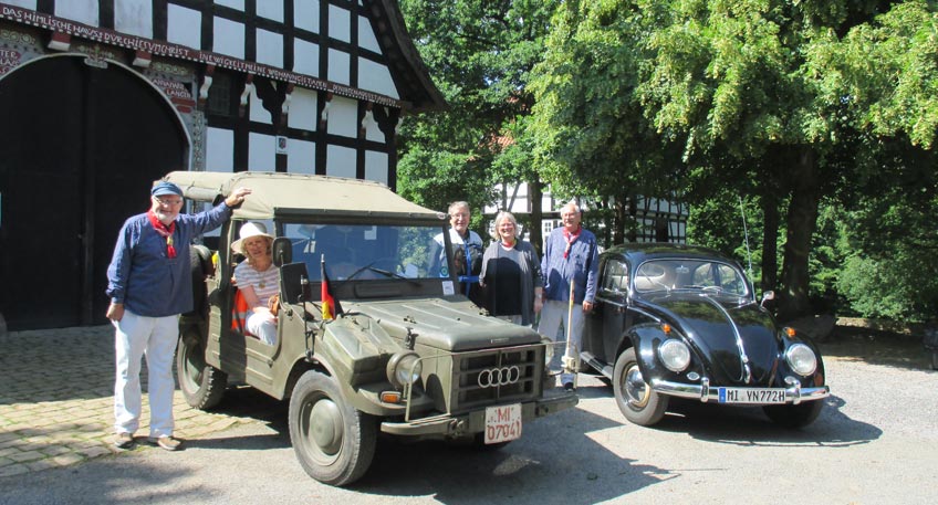
[[[560,412],[576,406],[580,398],[566,391],[550,391],[540,400],[521,403],[521,419],[524,423],[544,415]],[[491,406],[494,407],[494,406]],[[409,422],[385,421],[381,430],[385,433],[402,436],[432,436],[456,439],[486,429],[486,409],[479,409],[465,414],[441,414],[413,419]]]

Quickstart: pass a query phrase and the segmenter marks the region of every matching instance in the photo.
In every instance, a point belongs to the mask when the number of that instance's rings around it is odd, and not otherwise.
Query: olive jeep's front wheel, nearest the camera
[[[332,377],[310,370],[290,398],[290,440],[306,473],[342,486],[365,474],[375,455],[375,418],[348,404]]]

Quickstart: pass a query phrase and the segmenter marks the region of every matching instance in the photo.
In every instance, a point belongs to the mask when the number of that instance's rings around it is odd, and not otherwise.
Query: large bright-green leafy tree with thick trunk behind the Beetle
[[[878,172],[884,143],[934,141],[931,2],[574,0],[555,24],[533,83],[544,170],[754,198],[767,223],[784,221],[763,242],[785,234],[784,317],[810,309],[822,201]]]

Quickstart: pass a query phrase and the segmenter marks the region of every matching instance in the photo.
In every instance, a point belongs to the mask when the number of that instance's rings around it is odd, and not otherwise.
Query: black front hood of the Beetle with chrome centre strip
[[[778,369],[780,340],[768,313],[757,304],[699,293],[648,299],[661,311],[712,367],[717,383],[770,385]],[[749,367],[747,370],[746,362]]]

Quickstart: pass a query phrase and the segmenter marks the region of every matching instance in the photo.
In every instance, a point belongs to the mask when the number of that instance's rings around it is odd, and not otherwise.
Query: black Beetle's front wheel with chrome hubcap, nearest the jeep
[[[613,391],[618,410],[635,424],[650,427],[665,417],[668,397],[652,390],[652,385],[642,377],[634,347],[625,349],[616,359]]]

